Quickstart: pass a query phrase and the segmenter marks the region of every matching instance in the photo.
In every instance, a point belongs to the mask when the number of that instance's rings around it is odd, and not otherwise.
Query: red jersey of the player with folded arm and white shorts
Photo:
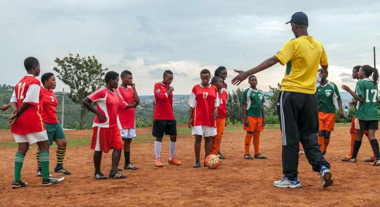
[[[125,108],[127,104],[133,104],[135,101],[135,92],[131,86],[124,88],[119,86],[116,89],[119,97],[119,113],[117,114],[117,125],[120,130],[122,129],[134,129],[135,128],[135,108]]]

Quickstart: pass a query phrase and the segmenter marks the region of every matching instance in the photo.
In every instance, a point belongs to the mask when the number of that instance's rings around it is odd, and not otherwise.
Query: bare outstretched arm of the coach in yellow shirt
[[[260,65],[256,66],[253,69],[250,69],[248,71],[236,70],[235,69],[235,72],[238,72],[239,74],[236,75],[236,77],[234,77],[231,82],[233,85],[239,85],[243,80],[247,79],[248,76],[253,75],[255,73],[258,73],[258,72],[265,70],[267,68],[270,68],[278,62],[280,62],[280,60],[278,60],[278,58],[276,56],[272,56],[272,57],[266,59]]]

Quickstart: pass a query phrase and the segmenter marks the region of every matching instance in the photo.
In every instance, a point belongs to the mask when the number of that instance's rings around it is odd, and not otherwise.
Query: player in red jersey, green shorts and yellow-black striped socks
[[[54,168],[54,173],[63,173],[66,175],[71,174],[68,170],[63,168],[63,160],[66,154],[66,137],[63,132],[62,126],[57,118],[56,107],[58,106],[57,98],[54,94],[54,89],[56,87],[55,76],[51,72],[44,73],[41,76],[41,92],[42,92],[42,120],[46,127],[47,137],[49,139],[50,145],[53,141],[57,143],[57,165]],[[42,169],[40,163],[40,149],[37,149],[37,176],[42,177]]]

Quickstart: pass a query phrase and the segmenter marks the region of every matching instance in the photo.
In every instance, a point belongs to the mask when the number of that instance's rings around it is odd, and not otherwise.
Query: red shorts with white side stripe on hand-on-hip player
[[[92,133],[91,149],[109,152],[110,149],[123,149],[120,129],[116,125],[110,128],[94,127]]]

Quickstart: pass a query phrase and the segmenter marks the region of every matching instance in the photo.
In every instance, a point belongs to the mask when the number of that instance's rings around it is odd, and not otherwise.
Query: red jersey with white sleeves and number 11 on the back
[[[10,102],[16,102],[17,108],[25,102],[29,107],[12,124],[10,131],[14,134],[25,135],[42,132],[45,125],[42,122],[42,92],[41,82],[31,74],[25,75],[14,87]]]

